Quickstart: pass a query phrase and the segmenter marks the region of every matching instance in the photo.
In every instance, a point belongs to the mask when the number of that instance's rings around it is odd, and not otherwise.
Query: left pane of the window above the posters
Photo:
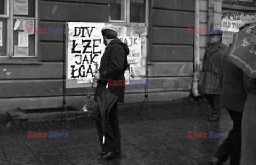
[[[124,0],[110,0],[109,20],[125,20]]]

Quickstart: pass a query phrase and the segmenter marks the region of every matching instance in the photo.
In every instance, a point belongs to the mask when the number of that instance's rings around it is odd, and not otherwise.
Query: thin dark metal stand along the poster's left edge
[[[63,28],[66,28],[66,24],[64,25]],[[68,113],[67,113],[67,105],[66,105],[66,35],[63,34],[63,40],[64,40],[64,44],[63,44],[63,110],[61,113],[61,117],[60,117],[60,123],[62,123],[62,116],[63,116],[63,112],[65,110],[66,113],[66,122],[67,122],[67,126],[69,129],[69,125],[68,125]]]

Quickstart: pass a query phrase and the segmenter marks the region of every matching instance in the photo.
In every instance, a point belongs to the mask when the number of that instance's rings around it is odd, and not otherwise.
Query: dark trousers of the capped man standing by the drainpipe
[[[205,94],[205,98],[209,102],[212,108],[211,117],[220,117],[220,95]]]

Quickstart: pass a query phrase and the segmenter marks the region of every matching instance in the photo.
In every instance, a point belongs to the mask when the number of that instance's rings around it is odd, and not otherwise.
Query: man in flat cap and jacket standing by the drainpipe
[[[212,114],[209,121],[220,119],[220,59],[221,53],[227,47],[222,43],[221,30],[215,30],[211,40],[206,44],[206,50],[203,59],[203,93],[212,108]]]

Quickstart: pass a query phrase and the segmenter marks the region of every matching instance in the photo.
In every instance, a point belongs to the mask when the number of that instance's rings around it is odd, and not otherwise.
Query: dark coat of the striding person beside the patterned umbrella
[[[221,55],[220,104],[226,109],[243,112],[247,97],[243,84],[243,71],[227,60],[229,51],[230,47]]]

